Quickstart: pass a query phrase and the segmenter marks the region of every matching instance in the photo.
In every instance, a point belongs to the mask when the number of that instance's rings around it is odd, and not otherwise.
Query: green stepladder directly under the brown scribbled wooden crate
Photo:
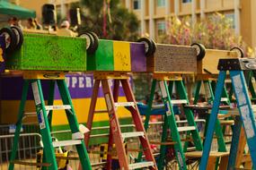
[[[159,88],[161,90],[163,105],[165,108],[165,113],[163,113],[163,132],[160,146],[160,156],[157,161],[158,169],[164,168],[164,157],[166,154],[166,142],[168,138],[168,130],[171,130],[172,142],[168,142],[173,145],[175,150],[175,157],[179,164],[180,169],[187,169],[186,165],[186,157],[184,151],[182,149],[180,132],[191,132],[192,140],[194,142],[196,150],[202,150],[202,142],[199,136],[199,131],[197,124],[194,120],[194,115],[192,114],[190,108],[184,107],[189,105],[188,94],[184,87],[181,75],[176,74],[156,74],[153,75],[152,88],[150,93],[150,98],[148,102],[148,110],[146,112],[146,121],[145,121],[145,129],[148,129],[150,115],[152,112],[153,100],[154,100],[154,91],[156,88],[156,84],[159,84]],[[168,84],[169,83],[169,84]],[[180,97],[178,100],[172,99],[172,89],[175,84],[176,93]],[[173,112],[173,105],[181,105],[183,106],[184,113],[187,117],[188,126],[186,127],[177,127],[177,123],[175,120],[175,115]],[[141,160],[141,153],[138,155],[137,159]]]

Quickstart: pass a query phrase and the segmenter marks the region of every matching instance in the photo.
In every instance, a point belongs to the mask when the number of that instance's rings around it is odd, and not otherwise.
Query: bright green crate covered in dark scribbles
[[[6,69],[86,71],[86,40],[24,34],[21,49],[7,56]]]

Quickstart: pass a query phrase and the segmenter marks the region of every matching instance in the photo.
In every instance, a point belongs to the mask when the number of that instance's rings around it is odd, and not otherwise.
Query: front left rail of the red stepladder
[[[102,80],[102,89],[103,89],[104,98],[106,100],[108,111],[109,111],[110,127],[111,127],[112,135],[114,138],[114,142],[116,144],[116,149],[119,157],[119,166],[120,166],[120,169],[124,168],[125,170],[128,170],[128,159],[126,157],[126,151],[123,146],[119,120],[116,115],[114,98],[112,96],[112,93],[110,90],[110,84],[108,80]]]

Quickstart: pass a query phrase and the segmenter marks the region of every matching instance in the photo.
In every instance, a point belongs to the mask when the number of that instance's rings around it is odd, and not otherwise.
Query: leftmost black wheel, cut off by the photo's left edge
[[[5,38],[6,53],[12,53],[17,45],[17,38],[15,36],[14,31],[9,28],[3,28],[0,30],[0,35],[4,36]]]

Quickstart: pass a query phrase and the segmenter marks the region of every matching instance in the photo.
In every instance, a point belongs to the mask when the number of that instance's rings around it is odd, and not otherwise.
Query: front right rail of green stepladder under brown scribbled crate
[[[189,104],[190,101],[189,101],[188,94],[185,90],[185,86],[184,86],[183,82],[182,81],[175,81],[175,84],[176,84],[176,87],[177,87],[178,94],[180,94],[180,98],[186,99],[188,104]],[[187,117],[188,124],[190,126],[194,126],[196,128],[195,131],[191,131],[195,147],[196,147],[197,150],[202,150],[203,145],[202,145],[202,141],[201,141],[201,138],[200,138],[200,135],[199,135],[197,123],[195,123],[195,120],[194,120],[194,115],[193,115],[192,111],[190,110],[190,108],[183,107],[183,109],[184,109],[185,115]]]

